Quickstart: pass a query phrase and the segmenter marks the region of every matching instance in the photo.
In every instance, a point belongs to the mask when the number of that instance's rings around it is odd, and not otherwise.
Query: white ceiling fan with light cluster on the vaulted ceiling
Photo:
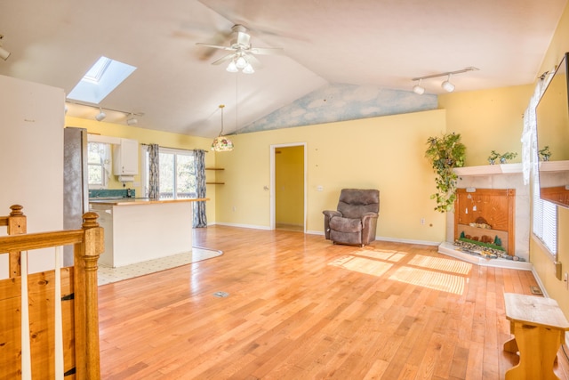
[[[221,46],[219,44],[196,43],[201,46],[211,47],[213,49],[225,50],[231,53],[221,57],[217,61],[213,61],[212,65],[220,65],[224,62],[228,63],[227,70],[229,72],[237,72],[243,70],[245,74],[254,72],[253,64],[258,65],[260,61],[254,54],[278,54],[283,51],[280,47],[252,47],[251,35],[247,28],[241,24],[236,24],[231,28],[231,40],[229,46]]]

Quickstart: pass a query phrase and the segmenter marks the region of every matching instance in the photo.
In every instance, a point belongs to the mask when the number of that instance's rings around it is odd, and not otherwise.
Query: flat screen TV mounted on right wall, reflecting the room
[[[536,111],[538,150],[548,147],[551,155],[539,154],[540,198],[569,207],[569,53],[565,53]]]

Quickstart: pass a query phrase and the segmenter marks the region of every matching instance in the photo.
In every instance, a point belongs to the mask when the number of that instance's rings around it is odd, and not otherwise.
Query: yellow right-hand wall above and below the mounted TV
[[[569,4],[565,6],[565,12],[559,20],[557,30],[551,40],[551,44],[549,44],[549,49],[543,58],[539,72],[542,73],[555,68],[565,52],[569,52]],[[565,273],[569,272],[569,209],[557,207],[557,213],[558,261],[562,263],[562,272]],[[533,235],[530,242],[530,260],[548,295],[557,300],[565,316],[569,318],[569,290],[567,290],[567,284],[563,280],[556,278],[551,255],[533,238]]]

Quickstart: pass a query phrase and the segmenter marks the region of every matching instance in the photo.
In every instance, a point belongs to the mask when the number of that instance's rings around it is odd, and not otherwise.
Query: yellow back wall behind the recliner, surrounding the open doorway
[[[342,188],[370,188],[381,191],[378,236],[441,242],[445,214],[434,211],[435,177],[424,158],[427,139],[439,133],[442,109],[232,136],[235,150],[217,156],[226,184],[216,220],[268,228],[270,146],[306,142],[307,230],[324,232],[322,211],[336,208]]]

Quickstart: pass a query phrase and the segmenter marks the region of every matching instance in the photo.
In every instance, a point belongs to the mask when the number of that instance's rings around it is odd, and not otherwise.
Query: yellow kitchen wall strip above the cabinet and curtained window
[[[156,143],[160,146],[168,148],[178,148],[184,150],[206,150],[208,153],[205,154],[205,166],[215,166],[215,153],[210,151],[212,144],[212,141],[210,139],[188,136],[185,134],[158,132],[136,126],[106,123],[104,121],[99,122],[96,120],[89,120],[80,117],[65,117],[65,126],[85,128],[87,129],[88,133],[97,133],[111,137],[134,139],[139,141],[140,144]],[[215,175],[216,174],[214,172],[207,171],[206,176],[208,182],[210,179],[213,181]],[[123,188],[122,182],[116,181],[116,175],[111,175],[110,181],[111,182],[109,183],[109,189]],[[135,186],[135,184],[137,184],[137,186]],[[126,182],[126,185],[127,187],[135,189],[137,194],[142,194],[142,190],[140,188],[140,175],[134,176],[134,182]],[[209,223],[215,222],[215,191],[216,185],[207,185],[207,198],[211,199],[206,202],[206,215],[207,221]]]

